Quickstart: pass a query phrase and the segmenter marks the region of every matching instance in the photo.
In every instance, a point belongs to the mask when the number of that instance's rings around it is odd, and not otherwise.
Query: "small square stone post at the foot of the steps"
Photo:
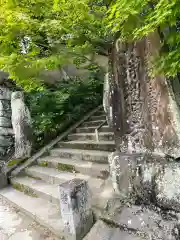
[[[59,192],[66,240],[81,240],[93,225],[88,184],[74,179],[61,184]]]

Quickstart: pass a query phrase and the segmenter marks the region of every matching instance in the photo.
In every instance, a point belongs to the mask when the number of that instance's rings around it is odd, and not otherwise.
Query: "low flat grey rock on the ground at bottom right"
[[[143,239],[176,240],[180,237],[175,217],[161,215],[160,211],[155,212],[141,206],[122,207],[105,219],[116,227],[143,236]]]

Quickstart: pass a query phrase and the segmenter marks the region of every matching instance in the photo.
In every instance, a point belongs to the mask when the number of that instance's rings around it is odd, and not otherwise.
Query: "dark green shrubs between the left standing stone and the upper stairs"
[[[26,95],[35,135],[35,151],[80,120],[102,102],[102,84],[95,75],[71,79]]]

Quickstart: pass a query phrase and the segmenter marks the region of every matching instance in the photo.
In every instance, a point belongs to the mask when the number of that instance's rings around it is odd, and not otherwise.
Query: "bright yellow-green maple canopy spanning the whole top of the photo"
[[[0,69],[28,90],[41,86],[42,69],[81,63],[117,37],[132,41],[155,30],[167,46],[156,70],[180,70],[178,0],[1,0],[0,12]]]

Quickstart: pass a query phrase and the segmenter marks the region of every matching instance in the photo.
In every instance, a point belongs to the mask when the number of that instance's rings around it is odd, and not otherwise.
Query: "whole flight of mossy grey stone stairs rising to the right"
[[[103,191],[109,175],[108,155],[115,149],[113,132],[107,125],[99,129],[96,141],[95,129],[105,119],[103,110],[98,110],[48,154],[11,178],[11,185],[0,195],[61,238],[58,186],[80,178],[89,184],[95,215],[101,214],[109,196]]]

